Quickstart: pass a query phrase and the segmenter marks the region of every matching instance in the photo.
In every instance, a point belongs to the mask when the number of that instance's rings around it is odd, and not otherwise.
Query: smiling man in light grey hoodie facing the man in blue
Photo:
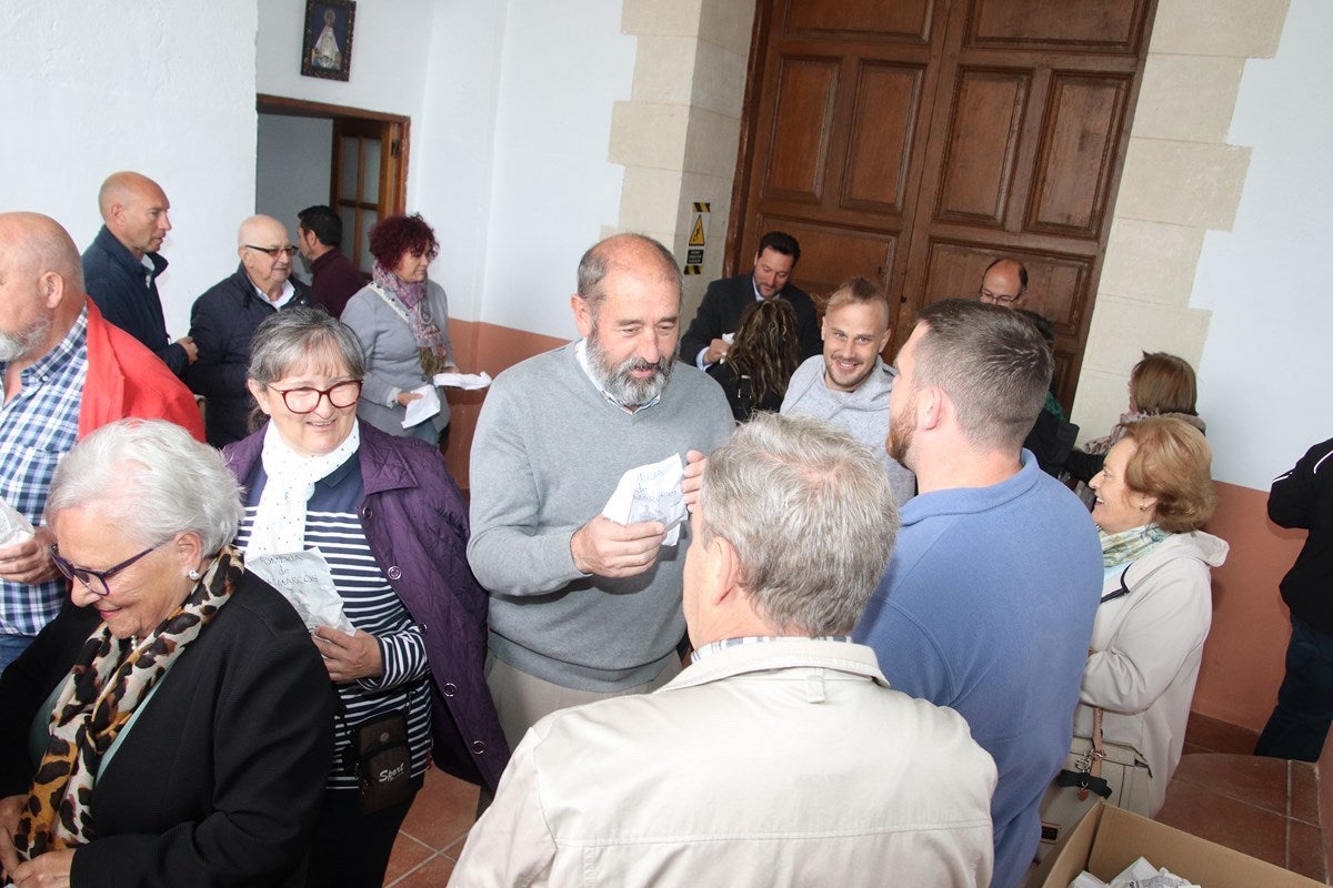
[[[898,506],[916,495],[916,475],[888,454],[889,394],[893,367],[880,353],[889,343],[889,302],[864,277],[844,282],[824,312],[824,354],[808,358],[792,374],[784,414],[814,417],[841,426],[884,463]]]

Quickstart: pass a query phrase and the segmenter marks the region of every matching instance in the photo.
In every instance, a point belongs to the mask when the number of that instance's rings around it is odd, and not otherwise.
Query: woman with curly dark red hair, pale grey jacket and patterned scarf
[[[343,309],[343,322],[365,347],[365,381],[357,415],[391,435],[415,435],[432,445],[449,425],[449,402],[411,427],[407,407],[423,395],[413,391],[435,374],[457,370],[449,345],[449,301],[427,278],[440,253],[435,230],[421,214],[389,216],[371,229],[373,280]]]

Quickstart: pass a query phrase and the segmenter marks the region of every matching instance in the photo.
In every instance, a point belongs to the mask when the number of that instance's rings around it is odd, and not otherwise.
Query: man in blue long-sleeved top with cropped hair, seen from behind
[[[1012,888],[1069,751],[1101,545],[1078,498],[1022,449],[1052,365],[1026,318],[934,302],[896,365],[889,455],[916,473],[918,493],[854,638],[892,687],[957,710],[994,759],[992,885]]]

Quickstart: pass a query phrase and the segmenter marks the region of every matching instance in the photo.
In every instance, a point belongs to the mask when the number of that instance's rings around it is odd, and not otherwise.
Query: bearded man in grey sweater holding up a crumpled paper
[[[600,513],[629,469],[709,451],[722,390],[676,366],[680,269],[620,234],[579,264],[581,339],[501,373],[472,443],[468,560],[491,592],[487,682],[511,747],[568,706],[652,691],[680,671],[688,527]]]

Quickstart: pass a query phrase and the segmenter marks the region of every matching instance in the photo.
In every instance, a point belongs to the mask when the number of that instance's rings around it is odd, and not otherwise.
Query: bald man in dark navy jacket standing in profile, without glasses
[[[103,226],[84,250],[84,284],[103,317],[143,342],[177,377],[199,354],[188,335],[167,337],[157,277],[167,260],[157,250],[171,230],[171,201],[139,173],[112,173],[97,192]]]

